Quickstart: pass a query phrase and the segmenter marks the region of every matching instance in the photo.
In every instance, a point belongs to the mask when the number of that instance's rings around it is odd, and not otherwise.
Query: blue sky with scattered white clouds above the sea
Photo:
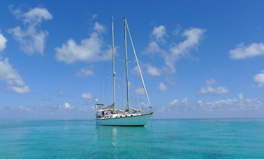
[[[154,118],[264,117],[261,0],[4,0],[0,2],[0,118],[93,119],[125,108],[123,17]],[[128,44],[131,106],[148,107]],[[105,81],[105,82],[103,82]],[[105,83],[105,87],[104,87]],[[104,91],[106,90],[106,91]]]

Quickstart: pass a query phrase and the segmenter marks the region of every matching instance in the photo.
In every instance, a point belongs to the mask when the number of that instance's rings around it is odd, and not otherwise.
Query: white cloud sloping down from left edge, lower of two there
[[[8,88],[16,93],[23,94],[30,91],[20,74],[9,64],[8,58],[0,61],[0,80],[6,81]]]

